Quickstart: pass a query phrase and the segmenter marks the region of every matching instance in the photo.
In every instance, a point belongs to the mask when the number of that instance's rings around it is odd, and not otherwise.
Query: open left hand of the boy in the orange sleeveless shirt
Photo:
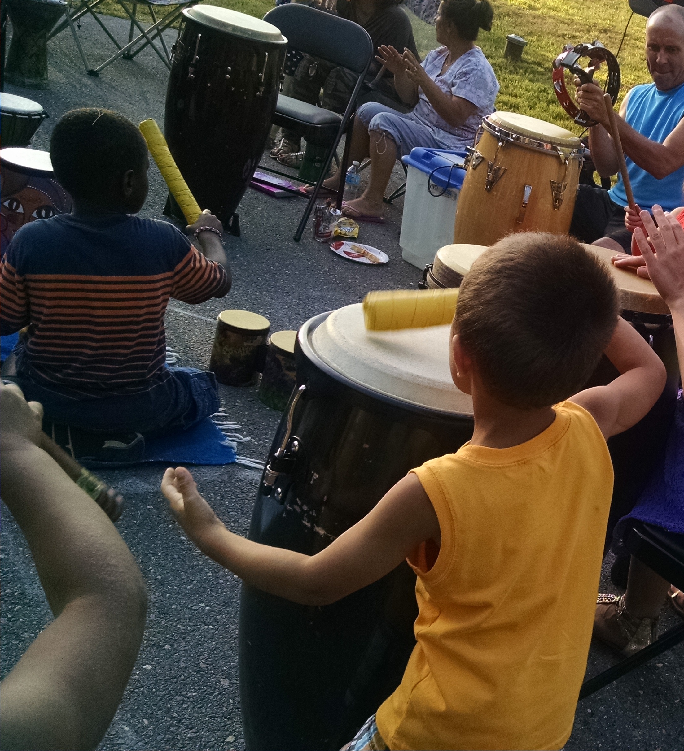
[[[162,493],[171,512],[200,550],[205,550],[216,531],[225,529],[211,506],[202,498],[185,467],[169,467],[162,478]]]

